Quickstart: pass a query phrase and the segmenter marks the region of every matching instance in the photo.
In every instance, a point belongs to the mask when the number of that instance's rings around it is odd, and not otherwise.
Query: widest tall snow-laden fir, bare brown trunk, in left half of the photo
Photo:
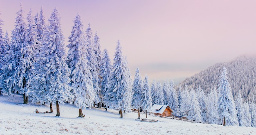
[[[59,103],[73,100],[71,94],[70,69],[66,63],[64,37],[61,30],[61,20],[55,8],[49,18],[49,31],[47,42],[40,52],[39,61],[36,63],[36,76],[31,86],[34,86],[34,98],[40,102],[56,102],[56,116],[60,116]]]

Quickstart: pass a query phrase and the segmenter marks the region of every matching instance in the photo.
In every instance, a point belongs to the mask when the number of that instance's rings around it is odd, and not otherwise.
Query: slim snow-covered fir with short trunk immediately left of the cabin
[[[141,99],[141,106],[144,111],[146,111],[146,118],[148,111],[152,108],[152,99],[151,99],[151,91],[148,82],[148,76],[146,75],[143,81],[142,86],[142,99]]]

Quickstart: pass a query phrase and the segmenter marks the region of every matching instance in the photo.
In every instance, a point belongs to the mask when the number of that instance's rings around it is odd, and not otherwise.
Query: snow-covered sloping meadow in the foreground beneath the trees
[[[77,118],[78,108],[74,105],[60,105],[61,117],[56,113],[35,113],[49,111],[49,105],[29,102],[23,105],[21,95],[0,96],[0,134],[83,134],[83,135],[256,135],[256,128],[221,126],[191,123],[168,118],[148,116],[160,122],[138,122],[137,113],[124,113],[104,109],[83,110],[84,118]],[[56,112],[56,105],[53,105]],[[141,114],[141,118],[146,118]]]

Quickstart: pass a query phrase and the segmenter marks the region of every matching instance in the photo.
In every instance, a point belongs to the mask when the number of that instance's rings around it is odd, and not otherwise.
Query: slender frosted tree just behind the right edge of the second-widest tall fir
[[[86,40],[86,49],[88,52],[88,65],[90,66],[90,72],[92,74],[92,83],[93,83],[93,89],[97,93],[95,96],[95,103],[99,103],[99,63],[97,61],[97,55],[94,47],[94,40],[92,40],[92,30],[90,28],[90,24],[88,24],[88,28],[85,31],[85,40]]]

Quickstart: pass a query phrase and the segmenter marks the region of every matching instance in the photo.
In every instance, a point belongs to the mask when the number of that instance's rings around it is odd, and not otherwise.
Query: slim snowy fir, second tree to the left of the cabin
[[[135,71],[135,76],[132,84],[132,107],[133,109],[138,109],[141,107],[141,99],[142,99],[142,79],[139,73],[139,68]]]

